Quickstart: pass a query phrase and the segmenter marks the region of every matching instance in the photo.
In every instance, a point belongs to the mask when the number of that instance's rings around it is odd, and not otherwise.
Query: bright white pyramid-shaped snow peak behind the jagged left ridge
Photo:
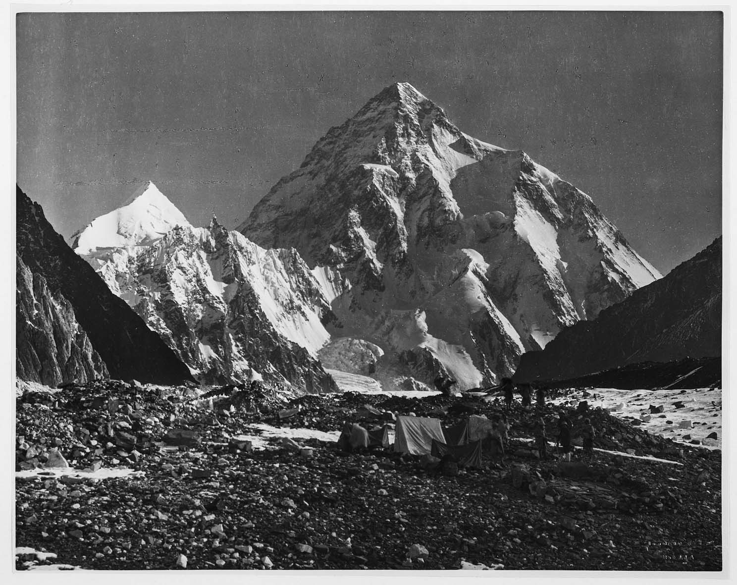
[[[177,225],[189,225],[181,211],[151,182],[122,207],[97,217],[71,236],[80,254],[99,248],[148,245]]]

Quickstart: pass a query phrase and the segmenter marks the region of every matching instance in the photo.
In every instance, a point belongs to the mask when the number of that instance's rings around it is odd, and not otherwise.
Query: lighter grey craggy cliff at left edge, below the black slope
[[[15,256],[15,375],[55,388],[108,377],[69,301]]]

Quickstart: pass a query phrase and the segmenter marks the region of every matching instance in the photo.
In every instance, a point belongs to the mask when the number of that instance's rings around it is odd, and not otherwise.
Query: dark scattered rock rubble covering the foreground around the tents
[[[562,462],[509,455],[486,469],[426,471],[391,449],[340,452],[314,438],[256,449],[256,424],[335,432],[398,415],[444,424],[500,402],[429,396],[303,396],[90,382],[17,400],[16,544],[97,570],[721,570],[721,451],[674,444],[601,409],[566,411],[604,452]],[[509,412],[511,449],[560,407]],[[284,411],[287,411],[284,416]],[[291,411],[291,412],[289,412]],[[281,414],[280,414],[281,413]],[[89,473],[43,475],[66,461]],[[135,477],[95,477],[128,468]],[[26,564],[24,564],[26,563]]]

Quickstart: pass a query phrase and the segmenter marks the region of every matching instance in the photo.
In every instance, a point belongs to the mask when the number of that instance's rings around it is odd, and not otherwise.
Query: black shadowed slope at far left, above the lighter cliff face
[[[46,221],[38,203],[16,187],[16,251],[23,265],[63,296],[94,351],[116,379],[177,384],[189,370]],[[26,374],[30,375],[30,374]]]

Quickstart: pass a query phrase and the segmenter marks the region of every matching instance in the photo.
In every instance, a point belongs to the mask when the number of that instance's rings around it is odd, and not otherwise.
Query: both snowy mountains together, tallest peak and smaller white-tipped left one
[[[590,197],[408,83],[329,130],[237,231],[193,227],[147,183],[71,244],[200,382],[307,392],[344,374],[492,385],[660,278]]]

